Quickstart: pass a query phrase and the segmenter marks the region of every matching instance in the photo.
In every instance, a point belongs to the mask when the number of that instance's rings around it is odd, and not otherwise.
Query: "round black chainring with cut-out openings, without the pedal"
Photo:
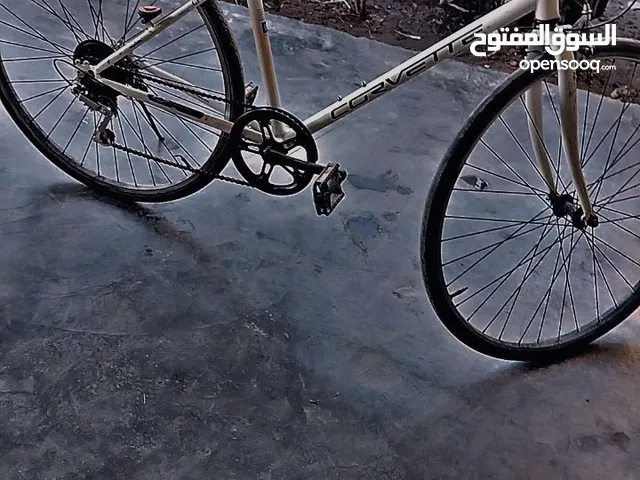
[[[274,122],[280,122],[291,129],[294,135],[285,141],[276,139],[273,133]],[[250,124],[257,124],[262,135],[262,142],[255,143],[246,139],[243,132]],[[304,163],[315,164],[318,161],[318,147],[309,129],[290,113],[275,107],[260,107],[241,115],[233,125],[230,133],[230,145],[233,145],[233,163],[242,177],[252,187],[264,193],[276,196],[294,195],[301,192],[311,183],[314,176],[312,169],[283,165],[281,158],[288,156],[292,150],[304,150]],[[297,153],[297,152],[296,152]],[[259,163],[256,173],[247,163],[245,154],[251,155]],[[298,157],[298,156],[296,156]],[[276,167],[279,167],[276,169]],[[274,183],[274,170],[284,172],[290,178],[289,183]]]

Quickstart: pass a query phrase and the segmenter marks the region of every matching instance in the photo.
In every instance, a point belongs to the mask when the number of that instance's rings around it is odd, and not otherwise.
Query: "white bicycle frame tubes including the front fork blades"
[[[185,2],[184,5],[178,7],[173,12],[151,23],[143,32],[136,35],[102,62],[93,67],[85,67],[85,69],[92,70],[97,80],[122,95],[153,105],[168,113],[186,117],[194,122],[202,123],[222,132],[229,133],[233,127],[233,123],[224,118],[195,111],[191,107],[185,107],[176,102],[158,98],[148,92],[108,80],[100,75],[101,72],[115,65],[124,57],[131,56],[135,59],[135,50],[138,47],[207,1],[210,0],[189,0]],[[281,108],[280,92],[269,41],[263,0],[248,0],[248,6],[260,69],[267,90],[267,102],[269,106]],[[416,54],[389,72],[380,75],[362,88],[359,88],[315,115],[312,115],[304,121],[304,124],[311,133],[317,133],[373,100],[382,97],[385,93],[390,92],[406,81],[416,78],[438,62],[465,52],[475,39],[476,33],[489,34],[495,32],[502,27],[511,25],[513,22],[532,12],[535,12],[536,19],[540,21],[559,19],[559,0],[510,0],[479,20],[467,25],[432,47]],[[572,60],[573,52],[564,52],[560,57],[565,60]],[[163,69],[151,66],[141,60],[138,60],[138,62],[141,64],[141,67],[161,78],[191,85]],[[593,213],[593,208],[587,195],[587,187],[582,173],[578,149],[577,95],[575,94],[577,86],[575,72],[571,70],[559,70],[558,87],[560,91],[560,118],[564,152],[586,218]],[[194,88],[197,89],[196,86],[194,86]],[[200,102],[203,101],[201,97],[197,98]],[[206,103],[213,111],[219,114],[223,114],[225,111],[226,105],[222,102],[208,101]],[[534,153],[540,165],[545,183],[549,187],[549,193],[554,194],[557,193],[555,178],[550,159],[548,158],[543,143],[542,90],[539,85],[534,86],[526,93],[526,103],[530,112],[529,131]],[[285,140],[293,135],[293,132],[288,129],[278,129],[275,133]],[[249,127],[245,130],[244,136],[252,141],[262,141],[262,135]]]

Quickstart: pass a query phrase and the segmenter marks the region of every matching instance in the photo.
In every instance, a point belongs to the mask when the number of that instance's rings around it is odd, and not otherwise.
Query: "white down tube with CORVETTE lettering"
[[[468,50],[476,33],[491,33],[535,11],[536,0],[511,0],[479,20],[469,24],[431,48],[418,53],[393,70],[379,76],[344,99],[328,106],[305,120],[305,125],[316,133],[360,107],[390,92],[398,85],[426,72],[436,63]]]

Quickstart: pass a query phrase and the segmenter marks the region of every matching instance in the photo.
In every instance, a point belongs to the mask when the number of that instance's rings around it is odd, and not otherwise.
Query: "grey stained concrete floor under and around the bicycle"
[[[409,56],[272,28],[300,116]],[[424,295],[430,178],[500,80],[446,63],[323,136],[351,173],[328,219],[221,183],[97,198],[0,112],[0,478],[640,478],[632,325],[532,369],[461,347]]]

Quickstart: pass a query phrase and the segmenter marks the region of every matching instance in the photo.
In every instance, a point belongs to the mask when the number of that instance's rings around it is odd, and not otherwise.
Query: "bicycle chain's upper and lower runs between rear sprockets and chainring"
[[[229,105],[232,105],[232,104],[239,105],[239,106],[242,106],[242,107],[244,107],[246,109],[249,109],[249,110],[253,110],[253,109],[257,108],[257,107],[254,107],[253,105],[248,104],[248,103],[238,102],[238,101],[235,101],[235,100],[228,100],[225,97],[221,97],[219,95],[214,95],[214,94],[211,94],[211,93],[203,92],[203,91],[201,91],[199,89],[191,88],[191,87],[188,87],[186,85],[181,85],[181,84],[179,84],[177,82],[172,82],[170,80],[165,80],[165,79],[161,79],[161,78],[152,77],[150,75],[145,75],[144,73],[140,73],[137,69],[128,69],[128,68],[124,68],[124,67],[120,67],[120,66],[114,66],[112,68],[117,68],[119,70],[124,70],[124,71],[131,72],[134,75],[138,76],[139,78],[142,78],[142,79],[145,79],[145,80],[148,80],[148,81],[160,84],[160,85],[165,85],[165,86],[171,87],[171,88],[173,88],[175,90],[181,90],[181,91],[186,92],[186,93],[191,93],[191,94],[196,95],[196,96],[201,97],[201,98],[208,98],[208,99],[216,100],[216,101],[219,101],[219,102],[222,102],[222,103],[225,103],[225,104],[229,104]],[[133,148],[129,148],[129,147],[125,146],[125,145],[120,145],[120,144],[115,143],[115,142],[112,142],[111,146],[113,148],[121,150],[121,151],[123,151],[125,153],[137,155],[137,156],[139,156],[141,158],[146,158],[147,160],[153,160],[155,162],[162,163],[162,164],[165,164],[165,165],[169,165],[171,167],[179,168],[181,170],[186,170],[186,171],[189,171],[189,172],[192,172],[192,173],[200,173],[200,174],[208,175],[206,172],[203,172],[202,170],[193,168],[192,166],[188,165],[186,160],[185,160],[186,165],[180,165],[180,164],[178,164],[176,162],[172,162],[172,161],[167,160],[165,158],[158,157],[156,155],[152,155],[150,153],[142,152],[140,150],[136,150],[136,149],[133,149]],[[228,177],[226,175],[221,175],[221,174],[212,175],[212,177],[214,179],[216,179],[216,180],[220,180],[220,181],[223,181],[223,182],[232,183],[232,184],[235,184],[235,185],[239,185],[241,187],[253,188],[253,189],[258,190],[258,187],[252,185],[251,183],[247,182],[246,180],[240,180],[238,178]]]

